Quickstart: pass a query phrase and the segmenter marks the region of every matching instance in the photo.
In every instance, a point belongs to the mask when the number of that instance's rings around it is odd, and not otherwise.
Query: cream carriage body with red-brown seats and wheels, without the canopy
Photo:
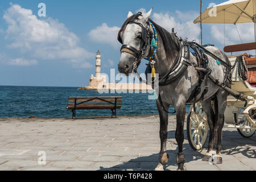
[[[229,50],[226,51],[232,51],[232,48],[236,48],[237,46],[245,47],[244,45],[229,46]],[[251,46],[251,49],[255,49],[256,43]],[[225,49],[227,49],[227,47],[225,47],[224,50]],[[236,49],[234,50],[236,51]],[[242,51],[242,49],[240,49],[240,51]],[[224,127],[237,129],[242,137],[249,138],[253,136],[256,131],[256,85],[254,78],[256,74],[256,57],[242,54],[228,56],[228,58],[233,66],[231,88],[249,97],[245,105],[244,101],[237,100],[237,98],[231,95],[228,96]],[[237,64],[238,60],[243,61],[243,63],[247,65],[249,69],[248,80],[244,81],[240,77],[240,65]],[[201,102],[196,103],[195,110],[193,106],[191,106],[188,113],[188,141],[194,150],[200,150],[203,148],[208,136],[209,126],[207,124],[207,116],[202,109]]]

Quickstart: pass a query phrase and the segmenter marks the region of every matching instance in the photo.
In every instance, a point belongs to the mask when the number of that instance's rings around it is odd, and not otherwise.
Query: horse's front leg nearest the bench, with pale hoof
[[[170,105],[164,104],[164,108],[167,110]],[[160,106],[159,100],[156,100],[156,106],[158,107],[158,113],[160,118],[160,140],[161,140],[161,146],[160,146],[160,154],[159,154],[159,164],[155,168],[155,171],[163,171],[163,166],[168,163],[168,154],[166,152],[166,142],[167,142],[167,126],[168,126],[168,113],[162,109]]]

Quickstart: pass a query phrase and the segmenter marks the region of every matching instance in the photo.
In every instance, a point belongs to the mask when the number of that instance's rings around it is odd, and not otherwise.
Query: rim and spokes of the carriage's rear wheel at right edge
[[[251,123],[247,120],[245,115],[242,113],[243,110],[240,110],[240,113],[238,113],[237,121],[240,123],[240,126],[249,126],[251,127]],[[249,111],[249,114],[251,115],[251,112]],[[255,133],[255,130],[253,129],[239,129],[242,135],[245,137],[250,137]]]

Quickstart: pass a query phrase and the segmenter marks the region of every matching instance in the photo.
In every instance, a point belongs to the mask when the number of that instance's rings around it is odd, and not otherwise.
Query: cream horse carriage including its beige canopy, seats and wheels
[[[249,51],[256,49],[256,16],[253,15],[255,9],[255,0],[231,0],[208,8],[194,23],[232,23],[236,25],[236,23],[253,22],[255,42],[224,47],[224,52]],[[210,16],[214,11],[218,13],[218,16]],[[233,13],[230,14],[230,12]],[[246,53],[231,55],[228,58],[232,64],[231,89],[244,94],[247,98],[245,103],[231,95],[228,96],[224,127],[237,129],[242,137],[249,138],[256,131],[256,57]],[[247,79],[241,78],[242,65],[237,64],[238,61],[245,66],[245,70],[242,72],[248,71]],[[203,148],[208,137],[208,130],[207,116],[202,109],[201,102],[197,102],[195,107],[190,107],[187,117],[187,137],[194,150]]]

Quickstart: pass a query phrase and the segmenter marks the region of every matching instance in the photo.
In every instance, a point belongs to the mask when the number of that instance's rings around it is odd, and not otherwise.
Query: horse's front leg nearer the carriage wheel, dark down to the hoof
[[[185,120],[185,102],[180,102],[175,105],[176,110],[176,131],[175,131],[175,139],[178,144],[178,153],[177,153],[177,170],[184,171],[185,170],[185,155],[183,154],[183,141],[184,141],[184,120]]]

